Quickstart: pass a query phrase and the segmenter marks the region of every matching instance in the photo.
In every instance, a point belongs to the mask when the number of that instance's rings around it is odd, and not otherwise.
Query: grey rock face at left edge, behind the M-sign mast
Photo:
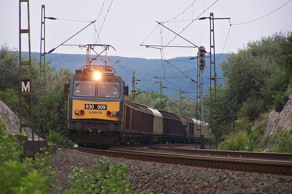
[[[19,135],[19,124],[20,120],[19,118],[11,111],[11,109],[0,100],[0,117],[2,117],[2,120],[4,120],[4,123],[6,125],[6,133],[13,133],[16,135]],[[28,137],[28,140],[32,140],[32,130],[28,127],[22,128],[22,131],[25,132],[25,134]],[[34,134],[34,140],[38,140],[39,136]],[[40,138],[40,140],[43,140]]]

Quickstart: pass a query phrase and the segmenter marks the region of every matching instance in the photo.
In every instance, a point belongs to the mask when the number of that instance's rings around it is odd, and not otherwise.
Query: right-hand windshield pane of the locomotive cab
[[[98,97],[119,98],[120,83],[117,81],[99,81],[97,95]]]

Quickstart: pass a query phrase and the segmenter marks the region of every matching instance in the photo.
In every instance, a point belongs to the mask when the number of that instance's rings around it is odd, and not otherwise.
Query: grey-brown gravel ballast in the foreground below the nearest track
[[[90,169],[103,158],[63,149],[51,155],[54,179],[69,188],[71,166]],[[292,193],[292,176],[237,172],[210,168],[171,165],[107,157],[111,165],[123,163],[130,168],[132,193]],[[52,193],[50,190],[49,193]]]

